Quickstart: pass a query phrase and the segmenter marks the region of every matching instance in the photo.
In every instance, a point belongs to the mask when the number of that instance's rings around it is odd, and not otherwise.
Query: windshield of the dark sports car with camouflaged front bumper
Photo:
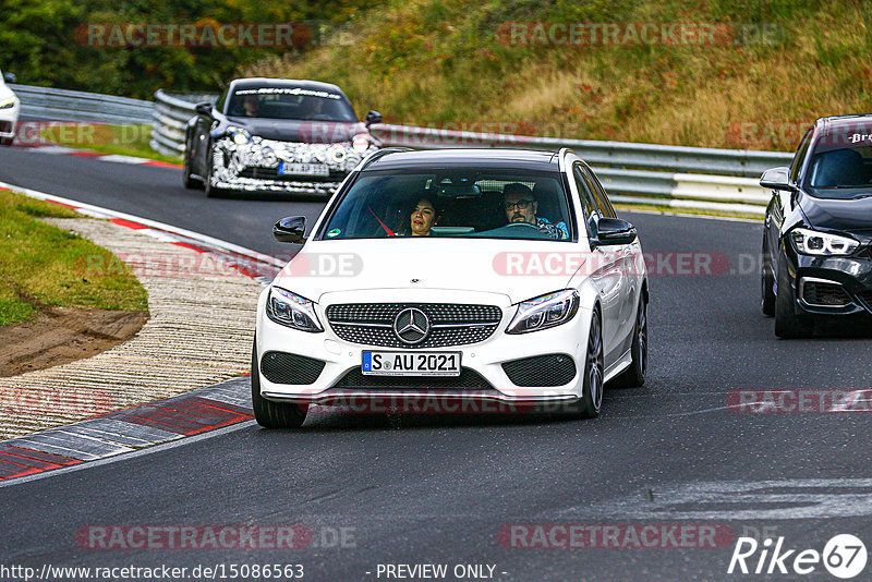
[[[302,121],[358,121],[343,95],[303,87],[237,89],[230,98],[227,114]]]

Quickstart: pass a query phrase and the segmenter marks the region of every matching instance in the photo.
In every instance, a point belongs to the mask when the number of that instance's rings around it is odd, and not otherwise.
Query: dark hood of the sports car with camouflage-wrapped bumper
[[[370,132],[360,121],[300,121],[292,119],[228,117],[230,125],[244,128],[252,135],[279,142],[336,144],[351,142],[359,133]]]

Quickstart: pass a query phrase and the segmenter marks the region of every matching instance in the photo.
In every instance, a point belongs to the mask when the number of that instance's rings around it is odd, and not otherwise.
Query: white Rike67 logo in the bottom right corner
[[[848,580],[865,571],[865,545],[851,534],[831,538],[823,551],[786,548],[784,537],[759,543],[753,537],[739,537],[727,573],[800,574],[815,572],[821,566],[834,577]]]

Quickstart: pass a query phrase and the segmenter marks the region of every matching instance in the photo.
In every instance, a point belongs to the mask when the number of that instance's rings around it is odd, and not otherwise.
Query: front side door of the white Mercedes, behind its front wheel
[[[602,209],[596,205],[593,183],[581,161],[572,165],[572,178],[581,198],[588,237],[590,240],[595,240],[597,223],[603,215],[601,214]],[[600,295],[600,305],[603,310],[603,348],[606,368],[620,355],[620,353],[616,353],[620,350],[618,330],[621,299],[625,293],[619,268],[620,262],[619,247],[597,246],[591,252],[590,277]]]

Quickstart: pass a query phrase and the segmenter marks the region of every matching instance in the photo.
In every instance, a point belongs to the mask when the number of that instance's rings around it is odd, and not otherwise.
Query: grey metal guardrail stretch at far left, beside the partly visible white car
[[[9,84],[21,99],[21,116],[57,121],[152,124],[154,104],[98,93]]]

